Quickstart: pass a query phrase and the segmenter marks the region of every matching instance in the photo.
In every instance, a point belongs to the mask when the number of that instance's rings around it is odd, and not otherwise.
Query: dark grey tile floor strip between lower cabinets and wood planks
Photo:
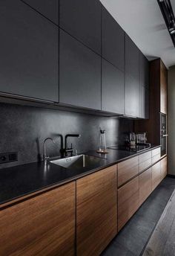
[[[175,179],[166,177],[119,234],[114,237],[102,256],[142,255],[174,189]]]

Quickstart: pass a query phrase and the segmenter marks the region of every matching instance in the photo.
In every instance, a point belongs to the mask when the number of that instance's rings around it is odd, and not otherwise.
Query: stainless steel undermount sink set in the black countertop
[[[57,159],[50,162],[65,168],[76,169],[82,167],[90,167],[93,166],[94,164],[98,164],[100,161],[102,161],[102,159],[95,156],[79,155],[67,157],[65,159]]]

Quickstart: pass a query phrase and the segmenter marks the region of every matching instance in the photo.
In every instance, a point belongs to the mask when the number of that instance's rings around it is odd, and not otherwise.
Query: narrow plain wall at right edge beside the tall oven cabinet
[[[175,65],[168,71],[168,173],[175,175]]]

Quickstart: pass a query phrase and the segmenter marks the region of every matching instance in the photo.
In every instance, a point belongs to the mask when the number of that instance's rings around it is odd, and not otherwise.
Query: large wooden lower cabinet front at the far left
[[[75,182],[0,211],[1,256],[74,255]]]

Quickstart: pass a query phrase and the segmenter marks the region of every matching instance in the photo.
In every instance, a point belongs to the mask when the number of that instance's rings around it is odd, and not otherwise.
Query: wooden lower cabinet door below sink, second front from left
[[[97,256],[117,233],[116,165],[76,182],[76,252]]]

